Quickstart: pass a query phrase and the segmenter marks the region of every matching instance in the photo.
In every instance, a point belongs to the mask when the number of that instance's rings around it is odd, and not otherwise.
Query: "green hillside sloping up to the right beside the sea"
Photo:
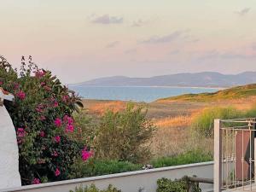
[[[238,99],[246,96],[256,96],[256,84],[232,87],[226,90],[218,90],[213,93],[185,94],[182,96],[172,96],[159,101],[189,101],[189,102],[212,102],[224,99]]]

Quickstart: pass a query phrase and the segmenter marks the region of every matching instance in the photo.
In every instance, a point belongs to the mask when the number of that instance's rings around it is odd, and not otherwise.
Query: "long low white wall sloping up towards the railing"
[[[157,179],[181,178],[183,176],[193,176],[213,178],[213,162],[197,163],[184,166],[170,166],[158,169],[151,169],[137,172],[125,172],[99,177],[85,177],[61,182],[43,183],[37,185],[24,186],[17,189],[5,189],[4,192],[69,192],[76,186],[90,185],[95,183],[99,189],[105,189],[108,184],[121,189],[122,192],[137,192],[140,188],[143,192],[155,192],[157,188]],[[212,184],[201,185],[203,191],[212,189]]]

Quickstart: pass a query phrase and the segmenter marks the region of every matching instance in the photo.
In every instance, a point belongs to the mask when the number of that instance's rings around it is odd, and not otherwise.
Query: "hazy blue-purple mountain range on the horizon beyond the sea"
[[[129,78],[114,76],[92,79],[79,86],[188,86],[188,87],[230,87],[242,84],[256,83],[256,72],[239,74],[222,74],[214,72],[178,73],[154,76],[151,78]]]

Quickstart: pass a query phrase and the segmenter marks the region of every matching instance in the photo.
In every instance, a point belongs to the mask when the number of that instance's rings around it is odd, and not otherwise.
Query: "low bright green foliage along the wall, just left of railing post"
[[[188,151],[184,154],[178,154],[173,157],[161,157],[151,161],[151,165],[154,168],[165,166],[178,166],[191,163],[199,163],[211,161],[213,159],[212,154],[203,152],[202,150]]]

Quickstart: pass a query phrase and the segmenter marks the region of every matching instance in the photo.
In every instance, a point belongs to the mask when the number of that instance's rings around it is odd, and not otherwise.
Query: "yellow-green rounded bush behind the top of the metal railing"
[[[214,119],[241,118],[243,113],[236,108],[207,108],[193,121],[193,131],[205,137],[213,136]]]

